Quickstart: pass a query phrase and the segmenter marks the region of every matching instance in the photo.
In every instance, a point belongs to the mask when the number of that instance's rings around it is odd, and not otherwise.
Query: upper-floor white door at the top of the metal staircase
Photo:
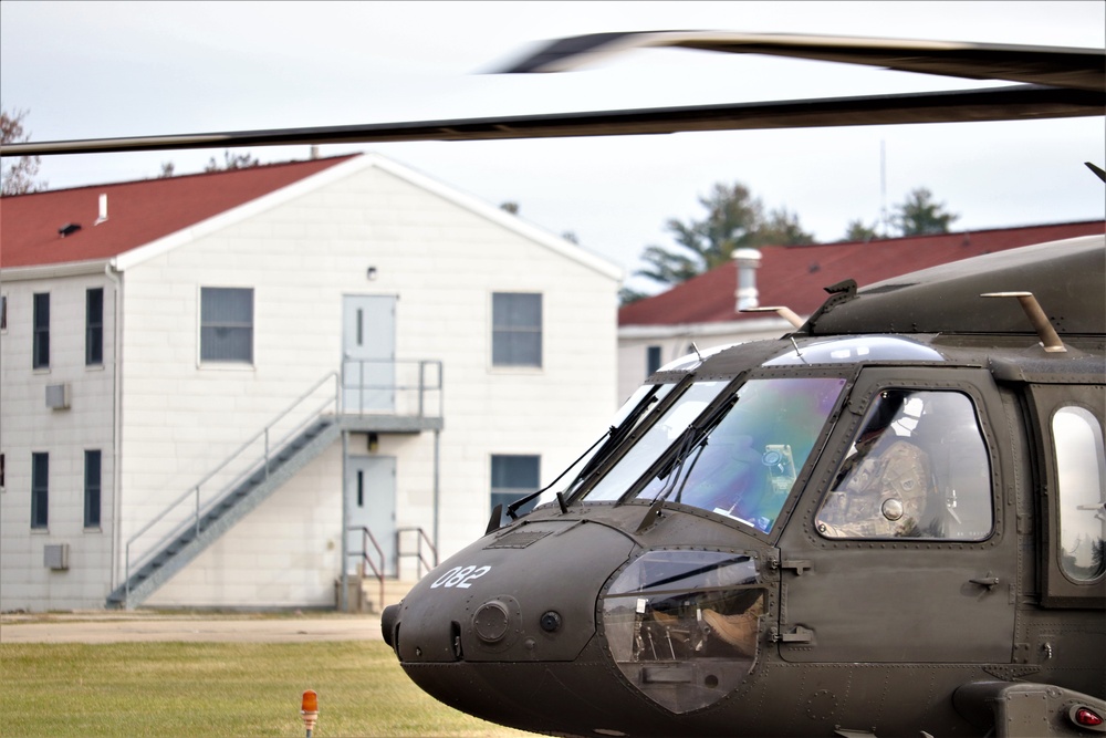
[[[395,295],[346,295],[342,303],[343,410],[395,412]]]

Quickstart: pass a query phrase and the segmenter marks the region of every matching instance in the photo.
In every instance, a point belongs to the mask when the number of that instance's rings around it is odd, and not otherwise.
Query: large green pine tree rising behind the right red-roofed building
[[[647,247],[641,260],[650,267],[637,274],[672,285],[727,263],[734,249],[814,242],[797,216],[779,209],[765,217],[761,201],[740,183],[716,184],[699,204],[707,209],[703,220],[671,219],[665,226],[681,250]]]

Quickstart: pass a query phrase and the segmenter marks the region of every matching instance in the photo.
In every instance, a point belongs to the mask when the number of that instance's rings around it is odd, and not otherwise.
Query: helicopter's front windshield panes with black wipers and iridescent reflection
[[[844,386],[839,377],[757,378],[712,403],[724,384],[695,383],[584,501],[638,488],[638,500],[690,505],[770,532]]]

